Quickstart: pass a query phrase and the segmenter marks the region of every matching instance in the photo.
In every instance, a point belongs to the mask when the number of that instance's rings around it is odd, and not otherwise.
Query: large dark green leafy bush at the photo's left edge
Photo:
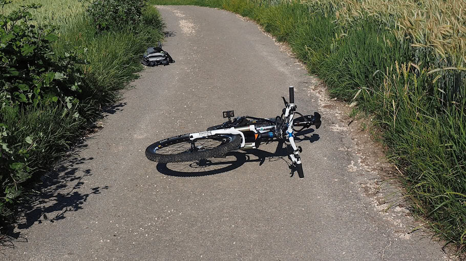
[[[0,0],[2,8],[9,3]],[[14,139],[18,122],[7,123],[7,119],[16,119],[43,104],[61,107],[62,117],[72,111],[72,117],[79,117],[74,111],[82,85],[79,59],[75,52],[53,57],[52,43],[58,39],[55,29],[31,23],[29,10],[39,7],[31,4],[0,14],[0,214],[2,206],[12,203],[22,192],[20,183],[31,177],[28,159],[43,136],[35,133]]]

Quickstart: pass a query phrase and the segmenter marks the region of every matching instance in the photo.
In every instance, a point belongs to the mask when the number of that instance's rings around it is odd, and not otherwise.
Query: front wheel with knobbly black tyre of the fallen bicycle
[[[158,141],[145,150],[147,159],[160,163],[219,157],[241,147],[241,136],[218,134],[195,140],[184,134]]]

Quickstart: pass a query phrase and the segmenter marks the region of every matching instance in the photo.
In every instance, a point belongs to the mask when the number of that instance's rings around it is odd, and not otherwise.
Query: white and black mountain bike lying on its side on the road
[[[292,161],[292,173],[298,171],[304,178],[300,153],[302,148],[294,142],[294,132],[300,132],[312,125],[321,126],[321,115],[302,115],[296,112],[294,88],[289,87],[290,102],[283,98],[285,108],[281,116],[257,118],[251,116],[235,117],[234,111],[223,112],[228,121],[207,128],[205,132],[183,134],[151,144],[145,150],[147,159],[159,163],[189,162],[207,158],[222,157],[232,150],[259,148],[262,142],[283,141],[287,144],[288,157]],[[294,119],[295,115],[299,117]]]

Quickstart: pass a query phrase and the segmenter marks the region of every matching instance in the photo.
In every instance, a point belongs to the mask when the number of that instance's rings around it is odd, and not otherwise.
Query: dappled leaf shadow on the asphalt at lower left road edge
[[[85,146],[84,146],[85,147]],[[76,151],[73,155],[77,155]],[[91,195],[99,194],[108,186],[83,189],[84,180],[92,175],[91,169],[81,168],[80,165],[93,158],[74,157],[47,175],[38,179],[33,192],[20,205],[21,213],[16,226],[3,224],[0,235],[0,252],[7,248],[14,248],[15,242],[27,242],[23,229],[33,224],[57,222],[65,219],[66,214],[83,208],[84,202]],[[16,229],[15,229],[16,227]]]

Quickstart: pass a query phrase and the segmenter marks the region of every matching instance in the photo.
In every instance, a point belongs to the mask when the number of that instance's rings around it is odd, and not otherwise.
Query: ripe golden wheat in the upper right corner
[[[346,35],[362,20],[386,28],[394,39],[409,45],[408,61],[429,71],[435,84],[425,86],[442,105],[461,101],[466,80],[466,0],[306,0],[312,12],[335,17],[338,34]],[[386,39],[385,39],[386,40]],[[392,45],[394,40],[386,40]],[[380,69],[380,68],[378,68]]]

